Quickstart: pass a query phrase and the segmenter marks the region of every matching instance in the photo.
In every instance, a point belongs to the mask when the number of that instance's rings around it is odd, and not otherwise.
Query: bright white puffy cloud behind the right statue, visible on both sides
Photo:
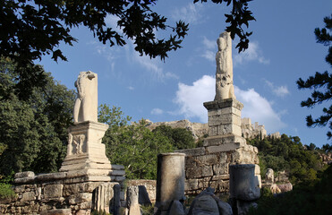
[[[178,84],[178,90],[174,99],[179,106],[178,114],[186,118],[198,118],[200,122],[207,123],[208,112],[203,107],[203,102],[211,101],[215,96],[215,78],[204,75],[192,85]],[[243,103],[242,117],[250,117],[251,122],[259,122],[265,125],[268,133],[274,133],[285,127],[280,116],[272,108],[268,99],[260,96],[253,89],[240,90],[234,87],[237,100]]]

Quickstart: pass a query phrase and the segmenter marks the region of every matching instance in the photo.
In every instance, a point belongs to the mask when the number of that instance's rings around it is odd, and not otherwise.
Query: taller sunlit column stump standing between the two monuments
[[[159,210],[167,210],[173,200],[184,198],[184,153],[163,153],[157,157],[157,201]]]

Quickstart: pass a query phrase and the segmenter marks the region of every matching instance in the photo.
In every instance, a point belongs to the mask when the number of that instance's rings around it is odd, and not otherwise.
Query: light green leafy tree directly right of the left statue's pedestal
[[[174,147],[163,133],[152,133],[145,120],[132,125],[129,120],[120,107],[99,107],[98,121],[109,125],[103,138],[106,156],[111,163],[124,166],[127,178],[156,179],[157,154]]]

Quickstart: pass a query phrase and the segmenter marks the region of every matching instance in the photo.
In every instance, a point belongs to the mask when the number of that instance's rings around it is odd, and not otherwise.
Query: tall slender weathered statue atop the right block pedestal
[[[215,100],[235,99],[233,85],[232,39],[223,32],[217,39],[216,97]]]

